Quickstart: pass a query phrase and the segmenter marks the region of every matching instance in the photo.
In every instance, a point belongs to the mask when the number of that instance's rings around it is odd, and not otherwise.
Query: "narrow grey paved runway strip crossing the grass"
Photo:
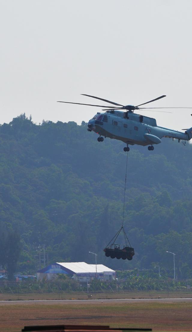
[[[192,302],[192,297],[186,298],[123,298],[123,299],[92,299],[92,300],[19,300],[0,301],[0,305],[12,304],[100,304],[100,303],[134,303],[134,302]]]

